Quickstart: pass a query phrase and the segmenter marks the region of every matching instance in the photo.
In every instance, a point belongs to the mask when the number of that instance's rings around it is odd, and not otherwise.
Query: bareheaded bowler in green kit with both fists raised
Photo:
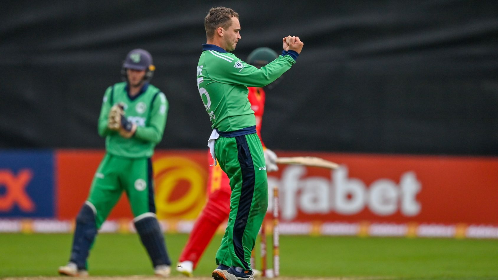
[[[264,87],[289,70],[303,43],[299,37],[284,37],[282,55],[258,69],[230,53],[241,39],[237,12],[211,8],[204,26],[207,43],[197,66],[197,87],[213,122],[208,141],[211,155],[228,175],[232,189],[228,225],[212,277],[249,280],[253,279],[251,250],[268,208],[268,186],[248,87]]]

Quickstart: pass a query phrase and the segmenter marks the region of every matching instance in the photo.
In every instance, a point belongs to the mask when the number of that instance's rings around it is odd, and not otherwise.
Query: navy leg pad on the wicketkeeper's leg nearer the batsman
[[[152,266],[171,265],[164,244],[164,236],[155,215],[150,213],[150,215],[135,220],[134,223],[136,232],[152,261]]]

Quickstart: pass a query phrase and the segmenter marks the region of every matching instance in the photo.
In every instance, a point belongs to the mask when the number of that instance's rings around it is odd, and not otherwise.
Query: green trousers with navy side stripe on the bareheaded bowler
[[[215,142],[215,152],[232,189],[228,225],[216,263],[251,270],[251,251],[268,208],[263,148],[254,133],[220,137]]]

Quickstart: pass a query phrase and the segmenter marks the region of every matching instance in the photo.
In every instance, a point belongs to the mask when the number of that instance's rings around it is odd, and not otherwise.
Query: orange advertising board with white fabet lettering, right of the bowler
[[[341,167],[288,165],[268,173],[268,184],[279,186],[284,221],[498,224],[497,158],[299,154]]]

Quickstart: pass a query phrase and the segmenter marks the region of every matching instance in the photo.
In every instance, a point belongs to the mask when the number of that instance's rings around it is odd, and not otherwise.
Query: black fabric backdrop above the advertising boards
[[[125,54],[145,48],[170,103],[161,148],[202,148],[195,71],[212,6],[241,15],[245,59],[305,43],[267,91],[268,147],[498,154],[498,2],[2,1],[0,147],[103,147],[97,118]]]

